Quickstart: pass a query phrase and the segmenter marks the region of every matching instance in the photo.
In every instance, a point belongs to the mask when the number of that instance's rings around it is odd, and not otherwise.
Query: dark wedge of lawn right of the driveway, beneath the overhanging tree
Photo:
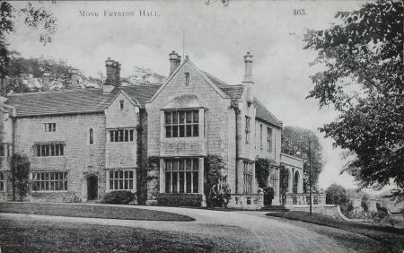
[[[338,228],[345,231],[352,231],[369,237],[373,240],[379,240],[393,251],[404,249],[404,229],[391,226],[378,226],[373,224],[346,222],[337,220],[323,214],[310,214],[308,212],[285,212],[268,213],[268,216],[280,217],[289,220],[310,222],[323,226]]]

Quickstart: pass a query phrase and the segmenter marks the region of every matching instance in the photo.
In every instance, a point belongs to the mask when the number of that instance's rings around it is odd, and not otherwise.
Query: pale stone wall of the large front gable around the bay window
[[[189,73],[189,84],[185,83],[185,73]],[[162,109],[171,100],[185,94],[195,95],[198,101],[206,105],[207,136],[204,137],[203,131],[200,130],[198,137],[166,138]],[[192,64],[185,63],[182,65],[178,72],[171,76],[171,80],[164,89],[155,95],[155,99],[146,104],[148,114],[148,156],[204,157],[207,154],[218,154],[227,162],[229,180],[233,180],[235,174],[235,166],[233,167],[235,149],[229,147],[231,144],[235,147],[235,140],[232,140],[229,131],[235,131],[235,128],[230,126],[229,122],[235,120],[235,113],[233,109],[229,109],[231,100],[222,97],[222,95],[223,93],[216,91],[207,83]],[[203,115],[199,115],[199,117],[203,118]],[[229,129],[229,127],[231,128]],[[232,134],[234,136],[234,133]],[[163,170],[162,165],[160,170]],[[199,188],[199,191],[201,191],[201,188]]]

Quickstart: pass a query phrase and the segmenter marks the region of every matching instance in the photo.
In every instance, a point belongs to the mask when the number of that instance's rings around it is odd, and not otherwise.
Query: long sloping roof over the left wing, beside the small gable
[[[109,94],[102,89],[77,89],[63,92],[31,92],[14,93],[5,102],[13,106],[16,117],[34,117],[60,114],[83,114],[103,112],[119,91],[145,107],[145,101],[150,100],[160,87],[160,84],[121,86],[114,88]]]

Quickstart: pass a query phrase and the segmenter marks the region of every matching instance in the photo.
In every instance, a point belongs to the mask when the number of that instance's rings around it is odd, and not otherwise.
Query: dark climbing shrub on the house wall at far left
[[[12,183],[13,200],[15,194],[20,196],[20,201],[30,192],[30,159],[22,153],[14,153],[12,156]]]

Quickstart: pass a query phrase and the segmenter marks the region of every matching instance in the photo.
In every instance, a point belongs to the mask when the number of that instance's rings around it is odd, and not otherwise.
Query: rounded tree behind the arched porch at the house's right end
[[[303,159],[303,191],[309,190],[309,142],[312,152],[312,188],[318,185],[319,175],[322,171],[322,146],[319,138],[312,130],[297,126],[285,126],[282,132],[282,153],[297,156]]]

